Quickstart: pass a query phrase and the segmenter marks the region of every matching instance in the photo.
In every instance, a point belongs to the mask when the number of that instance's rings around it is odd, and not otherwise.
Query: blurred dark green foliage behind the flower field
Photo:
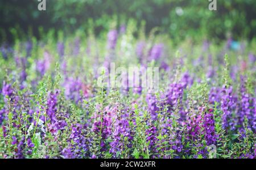
[[[146,21],[146,32],[160,27],[176,42],[188,37],[218,41],[228,35],[251,40],[256,34],[255,0],[217,0],[217,11],[208,9],[208,0],[47,0],[46,11],[39,11],[38,3],[0,0],[1,42],[13,42],[14,29],[19,38],[31,34],[40,38],[39,27],[72,34],[92,23],[97,35],[109,30],[113,20],[119,27],[129,18],[138,25]]]

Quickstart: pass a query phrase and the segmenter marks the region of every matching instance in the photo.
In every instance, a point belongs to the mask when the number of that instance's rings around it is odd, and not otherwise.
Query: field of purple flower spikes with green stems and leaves
[[[0,158],[256,158],[255,42],[159,32],[129,20],[3,43]],[[159,68],[158,88],[99,86],[110,63]]]

